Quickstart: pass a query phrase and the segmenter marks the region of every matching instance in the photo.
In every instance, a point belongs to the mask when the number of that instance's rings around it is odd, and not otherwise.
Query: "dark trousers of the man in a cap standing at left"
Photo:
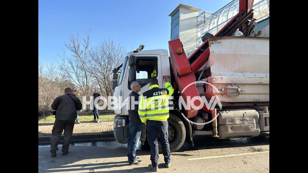
[[[58,150],[58,144],[61,134],[64,130],[64,141],[62,145],[62,152],[67,152],[69,150],[69,143],[71,142],[75,120],[61,121],[56,120],[52,127],[52,138],[50,152],[55,152]]]

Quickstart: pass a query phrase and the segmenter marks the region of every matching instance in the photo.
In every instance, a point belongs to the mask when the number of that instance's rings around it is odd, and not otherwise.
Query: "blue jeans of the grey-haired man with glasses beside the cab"
[[[129,122],[129,137],[127,141],[127,157],[128,161],[134,162],[136,159],[136,150],[138,148],[138,143],[141,135],[142,124],[136,124]]]

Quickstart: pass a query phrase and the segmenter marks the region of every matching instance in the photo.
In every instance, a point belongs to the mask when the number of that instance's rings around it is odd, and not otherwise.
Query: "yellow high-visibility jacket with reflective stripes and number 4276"
[[[141,95],[138,114],[142,122],[146,120],[167,121],[169,118],[168,99],[174,89],[169,82],[165,83],[166,88],[159,88],[158,85],[150,86],[150,90]]]

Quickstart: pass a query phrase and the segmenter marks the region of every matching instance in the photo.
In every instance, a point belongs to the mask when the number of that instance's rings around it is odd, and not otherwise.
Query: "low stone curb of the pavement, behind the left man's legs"
[[[81,139],[102,139],[102,138],[114,138],[113,133],[90,133],[90,134],[73,134],[72,140]],[[64,135],[61,135],[60,142],[63,142]],[[51,142],[51,136],[38,137],[39,143]]]

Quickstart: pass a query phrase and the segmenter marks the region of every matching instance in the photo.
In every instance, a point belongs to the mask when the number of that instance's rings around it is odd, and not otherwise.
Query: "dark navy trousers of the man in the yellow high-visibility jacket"
[[[170,163],[171,153],[168,141],[168,121],[146,121],[146,136],[151,146],[151,161],[153,167],[158,167],[158,134],[162,145],[162,154],[165,163]]]

